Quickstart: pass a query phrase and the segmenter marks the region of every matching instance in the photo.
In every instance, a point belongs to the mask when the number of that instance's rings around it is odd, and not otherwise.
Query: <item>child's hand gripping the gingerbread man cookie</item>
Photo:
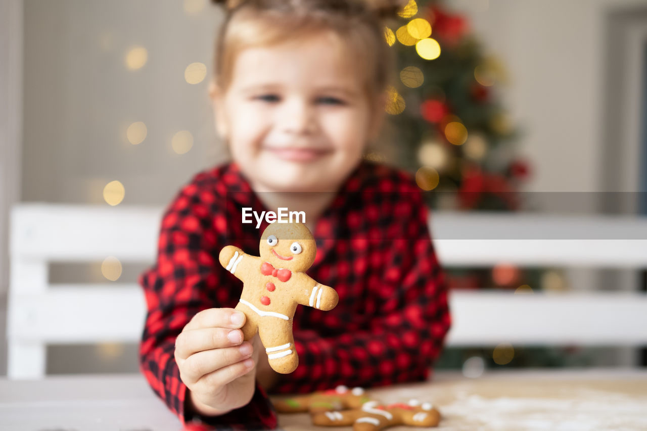
[[[258,351],[243,342],[245,315],[212,308],[193,316],[175,340],[175,362],[186,384],[186,407],[221,415],[245,406],[254,395]],[[255,352],[256,350],[256,352]]]

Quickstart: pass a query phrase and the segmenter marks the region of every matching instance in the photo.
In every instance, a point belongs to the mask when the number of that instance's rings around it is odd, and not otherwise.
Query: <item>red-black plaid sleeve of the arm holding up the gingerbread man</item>
[[[276,428],[276,413],[267,395],[256,385],[247,406],[218,417],[201,417],[184,408],[186,386],[173,357],[175,338],[193,315],[210,307],[224,307],[217,287],[221,245],[214,227],[218,209],[199,180],[185,186],[162,217],[155,265],[139,278],[148,314],[140,344],[140,369],[151,388],[179,416],[182,423],[199,420],[216,429]],[[229,290],[229,289],[227,289]]]

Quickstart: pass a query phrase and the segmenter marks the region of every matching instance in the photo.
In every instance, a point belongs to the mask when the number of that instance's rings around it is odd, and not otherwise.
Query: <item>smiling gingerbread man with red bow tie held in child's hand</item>
[[[247,316],[243,337],[250,340],[258,331],[270,366],[279,373],[291,373],[299,364],[292,337],[296,306],[327,311],[339,300],[332,287],[305,274],[316,250],[313,234],[303,223],[272,223],[261,236],[260,257],[232,245],[220,252],[221,265],[243,282],[236,305]]]

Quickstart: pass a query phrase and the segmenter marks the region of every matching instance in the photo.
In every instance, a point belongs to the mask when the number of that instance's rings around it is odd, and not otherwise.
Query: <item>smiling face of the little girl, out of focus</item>
[[[236,57],[226,92],[212,85],[217,130],[257,192],[334,191],[375,138],[362,72],[320,32]]]

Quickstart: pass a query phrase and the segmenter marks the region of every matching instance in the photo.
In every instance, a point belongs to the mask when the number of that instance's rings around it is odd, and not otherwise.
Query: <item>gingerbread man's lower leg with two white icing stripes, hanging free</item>
[[[294,348],[292,320],[263,316],[259,322],[258,335],[265,346],[272,370],[282,374],[296,370],[299,365],[299,357]]]

